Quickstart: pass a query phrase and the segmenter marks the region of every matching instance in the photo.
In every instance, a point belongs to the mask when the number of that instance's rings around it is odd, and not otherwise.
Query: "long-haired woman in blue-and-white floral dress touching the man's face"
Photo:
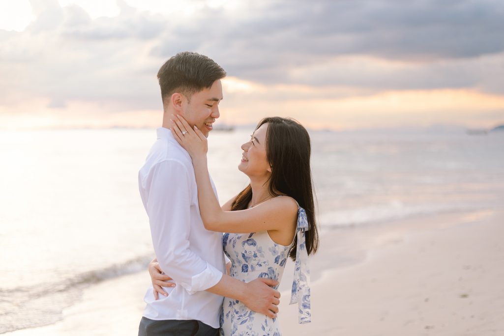
[[[173,136],[193,160],[205,228],[226,232],[223,248],[231,260],[230,276],[245,282],[261,277],[280,281],[290,256],[295,261],[290,303],[298,302],[299,323],[310,322],[307,255],[317,251],[319,237],[306,129],[293,119],[261,120],[250,141],[241,146],[238,169],[250,184],[221,208],[208,173],[207,139],[182,117],[173,119]],[[151,265],[153,284],[160,284],[156,279],[161,274],[153,269]],[[224,298],[221,334],[256,332],[280,334],[277,320]]]

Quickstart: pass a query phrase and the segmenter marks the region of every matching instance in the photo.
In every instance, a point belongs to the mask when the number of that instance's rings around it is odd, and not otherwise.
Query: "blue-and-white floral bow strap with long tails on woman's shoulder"
[[[309,230],[306,212],[303,208],[299,207],[297,211],[296,227],[296,263],[294,266],[294,280],[292,281],[292,294],[289,304],[297,302],[300,324],[311,322],[310,270],[308,267],[308,252],[306,251],[306,230]]]

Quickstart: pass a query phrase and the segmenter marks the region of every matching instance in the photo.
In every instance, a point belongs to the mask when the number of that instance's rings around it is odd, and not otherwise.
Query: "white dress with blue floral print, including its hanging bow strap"
[[[308,230],[306,213],[299,207],[297,216],[297,251],[292,282],[292,303],[298,303],[299,323],[310,322],[310,289],[308,254],[305,231]],[[281,281],[291,245],[275,243],[267,231],[255,233],[226,233],[224,252],[231,260],[231,277],[244,282],[257,278]],[[275,288],[277,289],[278,286]],[[221,313],[221,335],[280,335],[276,318],[249,310],[238,300],[224,298]]]

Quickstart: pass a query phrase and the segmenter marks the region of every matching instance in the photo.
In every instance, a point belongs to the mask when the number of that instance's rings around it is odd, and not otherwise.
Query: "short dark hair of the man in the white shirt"
[[[193,94],[210,89],[215,81],[226,77],[226,72],[210,57],[183,51],[168,59],[157,77],[164,103],[175,92],[190,100]]]

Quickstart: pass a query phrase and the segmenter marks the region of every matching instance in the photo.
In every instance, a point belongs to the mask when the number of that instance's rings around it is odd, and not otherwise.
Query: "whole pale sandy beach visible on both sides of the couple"
[[[297,305],[288,305],[290,263],[283,334],[504,334],[503,219],[488,210],[324,230],[311,260],[312,323],[297,324]],[[5,335],[136,335],[148,283],[147,272],[104,281],[61,321]]]

